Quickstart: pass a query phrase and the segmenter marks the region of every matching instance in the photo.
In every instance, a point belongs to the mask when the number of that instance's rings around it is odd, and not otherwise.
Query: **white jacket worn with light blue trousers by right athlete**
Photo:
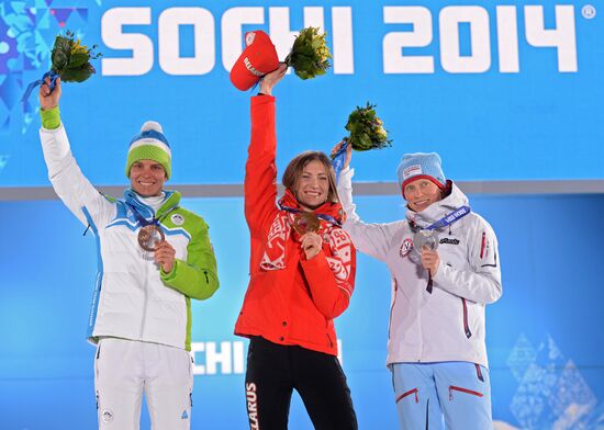
[[[387,364],[466,361],[488,367],[484,305],[501,297],[497,239],[489,223],[471,212],[438,230],[440,257],[427,291],[428,272],[411,249],[410,220],[425,228],[468,204],[451,183],[451,193],[426,210],[407,211],[406,218],[366,224],[353,203],[354,169],[342,171],[338,193],[347,214],[344,228],[357,249],[388,264],[392,299]]]

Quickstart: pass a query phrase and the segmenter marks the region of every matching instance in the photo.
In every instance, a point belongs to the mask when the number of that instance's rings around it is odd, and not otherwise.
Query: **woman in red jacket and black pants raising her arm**
[[[251,98],[251,140],[245,216],[251,239],[250,281],[235,333],[250,338],[246,392],[251,429],[287,429],[297,389],[316,429],[356,429],[346,377],[337,360],[333,319],[347,307],[355,248],[340,228],[344,213],[327,156],[306,151],[286,169],[277,200],[272,87],[281,66]],[[310,218],[303,214],[314,214]],[[318,230],[304,224],[318,220]],[[302,226],[302,227],[301,227]]]

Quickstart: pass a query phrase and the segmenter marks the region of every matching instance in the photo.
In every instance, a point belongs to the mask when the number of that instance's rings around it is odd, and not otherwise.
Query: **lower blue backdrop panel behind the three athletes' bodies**
[[[503,297],[486,309],[494,419],[550,429],[566,412],[575,414],[582,428],[595,428],[604,406],[599,270],[604,233],[597,228],[604,196],[471,201],[497,233],[503,269]],[[358,197],[357,203],[368,222],[404,213],[396,196]],[[192,428],[245,428],[241,366],[247,347],[232,335],[248,273],[243,201],[188,199],[183,206],[210,225],[221,278],[214,297],[192,307],[192,340],[201,347]],[[94,239],[81,236],[85,227],[59,202],[0,203],[0,223],[7,227],[0,247],[0,428],[94,428],[94,350],[85,340],[97,270]],[[365,429],[396,428],[384,366],[389,305],[388,270],[359,256],[355,294],[336,327]],[[223,348],[231,354],[216,364],[212,350]],[[292,428],[311,429],[301,401],[292,405]]]

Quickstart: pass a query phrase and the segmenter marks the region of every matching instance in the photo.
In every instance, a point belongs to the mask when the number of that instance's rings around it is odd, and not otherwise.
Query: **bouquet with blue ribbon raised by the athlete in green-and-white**
[[[51,54],[51,70],[45,72],[42,79],[33,81],[27,86],[23,99],[21,99],[25,106],[29,105],[27,99],[32,90],[43,84],[46,78],[51,79],[51,84],[48,86],[51,91],[55,89],[55,82],[59,77],[64,82],[83,82],[90,78],[97,71],[90,64],[90,60],[101,56],[101,54],[94,53],[96,48],[97,45],[93,45],[92,48],[81,45],[80,39],[76,39],[74,33],[69,31],[67,31],[65,36],[56,36]]]

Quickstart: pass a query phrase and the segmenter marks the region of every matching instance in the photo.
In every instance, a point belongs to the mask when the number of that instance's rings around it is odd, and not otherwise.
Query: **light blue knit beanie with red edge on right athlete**
[[[416,179],[428,179],[444,190],[447,180],[440,165],[440,156],[436,152],[405,154],[396,170],[403,197],[405,196],[403,190],[406,184]]]

